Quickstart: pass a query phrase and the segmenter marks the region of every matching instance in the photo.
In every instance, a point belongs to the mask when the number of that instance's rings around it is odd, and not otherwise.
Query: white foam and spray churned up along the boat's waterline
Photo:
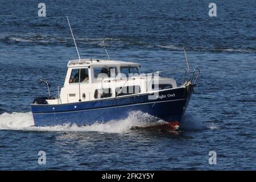
[[[34,127],[32,113],[3,113],[0,115],[0,130],[29,130],[29,131],[97,131],[102,133],[127,133],[134,127],[148,127],[161,125],[164,121],[152,117],[141,111],[131,112],[125,119],[112,120],[106,123],[96,122],[92,125],[58,125],[47,127]],[[181,121],[181,130],[216,129],[214,126],[206,127],[199,119],[191,114],[185,114]]]

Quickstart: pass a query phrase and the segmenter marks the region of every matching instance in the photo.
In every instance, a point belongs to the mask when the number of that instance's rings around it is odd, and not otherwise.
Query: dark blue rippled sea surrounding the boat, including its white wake
[[[0,170],[255,170],[256,2],[0,1]],[[217,5],[210,17],[209,3]],[[142,72],[201,75],[179,131],[144,129],[150,116],[90,126],[31,127],[30,104],[63,86],[77,59],[134,61]],[[139,127],[137,127],[139,126]],[[46,164],[38,152],[46,152]],[[209,151],[217,164],[209,164]]]

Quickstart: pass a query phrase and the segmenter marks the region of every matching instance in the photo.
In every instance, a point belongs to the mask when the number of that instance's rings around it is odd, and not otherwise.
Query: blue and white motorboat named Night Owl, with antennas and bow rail
[[[84,126],[127,118],[130,112],[141,111],[177,130],[200,70],[184,69],[180,85],[174,78],[160,76],[166,72],[170,70],[143,74],[141,65],[132,61],[79,56],[68,61],[64,85],[56,97],[51,96],[48,81],[41,80],[46,82],[49,96],[35,98],[31,104],[35,126]]]

